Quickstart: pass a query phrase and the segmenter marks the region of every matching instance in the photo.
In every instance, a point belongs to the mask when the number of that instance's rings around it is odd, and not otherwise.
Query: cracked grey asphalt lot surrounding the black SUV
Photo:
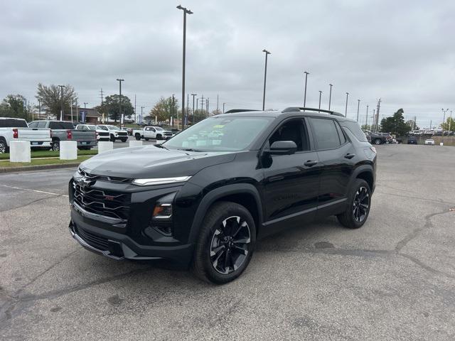
[[[225,286],[82,249],[74,170],[0,175],[0,339],[454,340],[455,148],[378,158],[364,227],[331,217],[264,239]]]

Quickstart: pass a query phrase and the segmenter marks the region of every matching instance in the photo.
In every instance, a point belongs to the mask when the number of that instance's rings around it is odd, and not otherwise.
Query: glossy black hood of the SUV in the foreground
[[[155,146],[107,151],[84,161],[80,168],[119,178],[168,178],[195,175],[203,168],[234,160],[236,153],[190,152]]]

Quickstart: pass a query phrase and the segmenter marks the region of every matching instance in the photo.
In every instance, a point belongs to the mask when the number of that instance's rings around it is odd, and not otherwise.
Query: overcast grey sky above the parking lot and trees
[[[36,102],[36,85],[71,84],[94,106],[122,92],[138,112],[160,96],[181,97],[180,1],[0,2],[0,97]],[[455,116],[455,1],[193,1],[188,16],[186,88],[210,108],[262,106],[263,48],[269,55],[267,108],[307,104],[365,120],[382,98],[381,117],[402,107],[417,123]]]

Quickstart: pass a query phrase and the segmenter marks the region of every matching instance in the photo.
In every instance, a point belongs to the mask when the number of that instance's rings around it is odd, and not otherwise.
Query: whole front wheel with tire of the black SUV
[[[205,215],[193,256],[193,271],[215,284],[235,280],[255,250],[256,226],[250,212],[235,202],[217,202]]]

